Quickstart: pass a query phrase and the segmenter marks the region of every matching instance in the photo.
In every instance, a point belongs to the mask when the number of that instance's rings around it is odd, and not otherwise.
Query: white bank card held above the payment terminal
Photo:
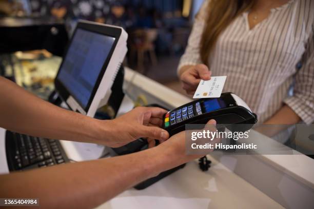
[[[218,98],[225,85],[227,76],[212,76],[210,80],[201,80],[195,94],[197,98]]]

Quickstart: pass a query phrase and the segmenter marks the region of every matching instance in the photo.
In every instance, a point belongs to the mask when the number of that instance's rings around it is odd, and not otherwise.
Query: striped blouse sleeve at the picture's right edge
[[[314,26],[302,56],[302,67],[295,77],[293,96],[284,102],[307,124],[314,121]]]

